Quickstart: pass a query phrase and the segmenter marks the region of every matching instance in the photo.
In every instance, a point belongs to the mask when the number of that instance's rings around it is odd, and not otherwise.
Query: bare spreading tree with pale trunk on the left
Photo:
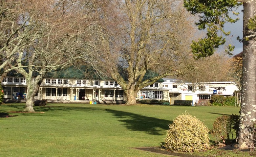
[[[7,2],[7,1],[6,1]],[[8,59],[9,69],[22,74],[27,82],[26,112],[34,112],[33,98],[47,72],[74,64],[80,58],[90,59],[90,41],[97,34],[100,5],[104,2],[79,0],[27,0],[22,5],[13,2],[14,19],[7,23],[19,25],[12,35],[13,56]],[[8,28],[7,28],[8,29]],[[29,31],[27,30],[29,29]],[[6,31],[6,36],[10,32]],[[22,36],[22,37],[21,37]],[[25,39],[24,39],[25,38]],[[6,39],[3,39],[4,42]],[[3,43],[4,43],[3,42]],[[3,50],[7,53],[9,48]],[[83,55],[79,52],[83,51]]]

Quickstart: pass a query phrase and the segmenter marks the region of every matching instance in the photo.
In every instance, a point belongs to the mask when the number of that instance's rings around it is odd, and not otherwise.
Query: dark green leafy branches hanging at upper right
[[[229,12],[238,15],[235,10],[242,5],[237,0],[184,0],[184,7],[191,12],[192,15],[199,15],[199,21],[195,23],[199,30],[207,29],[205,38],[199,41],[193,41],[191,44],[192,52],[195,59],[213,55],[215,50],[224,45],[226,40],[222,34],[229,35],[230,32],[224,31],[223,27],[226,22],[234,23],[239,18],[232,19]],[[225,50],[231,55],[234,46],[228,45]]]

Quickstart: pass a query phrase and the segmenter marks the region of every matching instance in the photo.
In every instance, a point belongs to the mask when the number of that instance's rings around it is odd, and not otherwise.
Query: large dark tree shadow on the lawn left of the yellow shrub
[[[163,135],[162,130],[168,130],[169,124],[173,121],[158,119],[155,117],[148,117],[140,114],[109,110],[107,112],[113,113],[118,118],[118,121],[123,122],[123,125],[131,131],[144,131],[152,135]]]

